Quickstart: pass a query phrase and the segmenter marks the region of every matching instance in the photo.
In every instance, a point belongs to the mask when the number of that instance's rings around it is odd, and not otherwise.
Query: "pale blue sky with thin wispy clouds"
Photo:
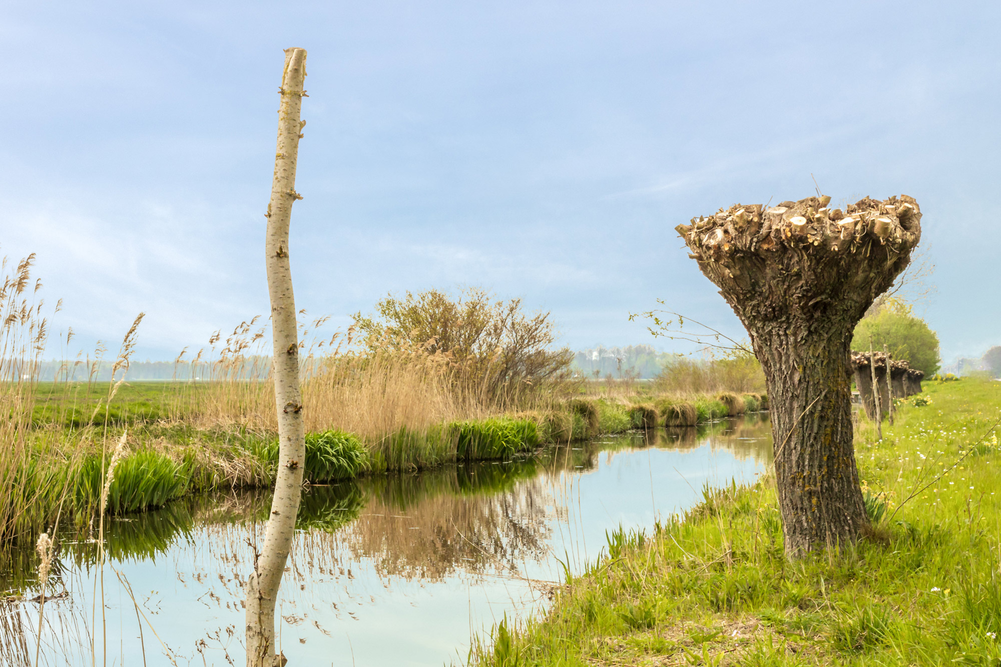
[[[998,3],[4,3],[0,252],[56,330],[172,359],[267,311],[282,49],[308,50],[299,307],[481,285],[574,348],[742,329],[676,224],[907,193],[948,363],[1001,344]],[[665,345],[665,344],[658,344]],[[667,349],[671,349],[670,344]]]

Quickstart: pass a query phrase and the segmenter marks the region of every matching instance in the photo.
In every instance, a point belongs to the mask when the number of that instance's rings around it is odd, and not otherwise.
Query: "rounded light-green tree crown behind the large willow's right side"
[[[939,370],[938,336],[928,323],[912,312],[912,306],[891,298],[874,314],[863,317],[855,326],[852,350],[869,352],[869,337],[874,350],[889,346],[894,359],[907,360],[912,369],[931,377]]]

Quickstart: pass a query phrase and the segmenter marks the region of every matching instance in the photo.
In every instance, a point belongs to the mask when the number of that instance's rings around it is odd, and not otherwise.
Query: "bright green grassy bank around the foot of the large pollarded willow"
[[[771,479],[706,490],[649,534],[609,536],[548,614],[496,626],[477,665],[1001,664],[1001,383],[926,386],[876,442],[874,520],[841,553],[783,554]]]

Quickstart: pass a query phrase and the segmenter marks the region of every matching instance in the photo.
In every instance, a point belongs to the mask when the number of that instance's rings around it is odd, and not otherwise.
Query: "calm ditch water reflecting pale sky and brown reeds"
[[[563,564],[594,562],[606,532],[649,531],[707,484],[752,481],[771,452],[767,417],[751,416],[314,486],[282,582],[281,650],[297,665],[461,663],[505,614],[545,608]],[[64,543],[55,590],[67,595],[46,602],[42,664],[90,665],[92,645],[101,665],[142,665],[142,646],[149,665],[242,664],[241,582],[268,504],[220,494],[113,520],[103,574],[93,543]],[[14,588],[31,572],[6,575]],[[0,663],[34,663],[37,616],[6,606]]]

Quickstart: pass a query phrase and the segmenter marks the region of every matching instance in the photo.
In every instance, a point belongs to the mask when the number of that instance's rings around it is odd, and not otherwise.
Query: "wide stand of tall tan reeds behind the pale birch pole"
[[[321,326],[312,322],[300,335]],[[274,395],[263,327],[256,317],[241,322],[217,353],[199,352],[208,377],[178,386],[175,414],[189,411],[204,428],[237,425],[274,432]],[[219,342],[218,335],[210,345]],[[305,344],[303,344],[304,346]],[[398,344],[382,349],[351,349],[351,331],[315,341],[301,355],[302,401],[309,432],[339,429],[373,444],[406,429],[425,432],[450,421],[479,419],[505,410],[481,387],[463,382],[462,369],[440,354]]]

